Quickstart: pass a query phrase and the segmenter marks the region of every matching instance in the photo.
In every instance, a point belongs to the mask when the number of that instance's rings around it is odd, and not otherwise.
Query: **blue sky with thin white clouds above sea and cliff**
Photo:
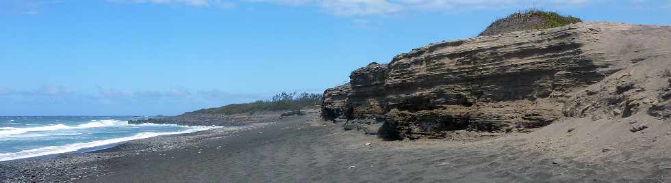
[[[0,115],[177,115],[322,93],[529,8],[671,25],[671,0],[0,0]]]

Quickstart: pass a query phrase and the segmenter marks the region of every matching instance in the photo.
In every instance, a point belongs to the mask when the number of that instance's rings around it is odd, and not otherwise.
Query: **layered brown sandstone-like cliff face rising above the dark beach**
[[[378,132],[388,138],[546,126],[572,116],[581,104],[571,100],[582,99],[571,95],[579,89],[646,59],[665,59],[669,30],[577,23],[429,44],[355,70],[350,83],[325,91],[322,115],[352,129],[382,123]],[[666,50],[641,47],[648,41]]]

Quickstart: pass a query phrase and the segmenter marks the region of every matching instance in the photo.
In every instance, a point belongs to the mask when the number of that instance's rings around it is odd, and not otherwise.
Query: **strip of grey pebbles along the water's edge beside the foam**
[[[98,165],[116,159],[179,149],[203,139],[233,135],[275,123],[234,124],[196,132],[132,139],[73,152],[6,160],[0,162],[0,182],[72,182],[87,175],[105,174],[105,166]],[[53,169],[58,170],[54,172]]]

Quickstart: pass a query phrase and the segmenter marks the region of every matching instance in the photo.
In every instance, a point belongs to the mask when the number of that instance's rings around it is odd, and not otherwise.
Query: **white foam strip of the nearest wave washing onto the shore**
[[[214,129],[214,128],[222,128],[222,127],[218,127],[218,126],[190,126],[188,130],[183,130],[183,131],[179,131],[179,132],[140,132],[140,133],[138,133],[136,135],[133,135],[131,137],[123,137],[123,138],[118,138],[118,139],[106,139],[106,140],[92,141],[92,142],[85,142],[85,143],[73,143],[73,144],[70,144],[70,145],[40,147],[40,148],[36,148],[36,149],[32,149],[32,150],[23,150],[21,152],[12,152],[12,153],[0,154],[0,161],[16,160],[16,159],[22,159],[22,158],[32,158],[32,157],[37,157],[37,156],[45,156],[45,155],[49,155],[49,154],[60,154],[60,153],[66,153],[66,152],[74,152],[74,151],[81,150],[81,149],[84,149],[84,148],[98,147],[98,146],[101,146],[101,145],[110,145],[112,143],[121,143],[121,142],[124,142],[124,141],[131,141],[131,140],[136,140],[136,139],[156,137],[156,136],[159,136],[159,135],[175,135],[175,134],[197,132],[197,131],[209,130],[209,129]]]

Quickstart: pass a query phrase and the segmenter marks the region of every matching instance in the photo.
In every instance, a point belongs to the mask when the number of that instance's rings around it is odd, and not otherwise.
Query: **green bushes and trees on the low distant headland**
[[[282,92],[273,96],[271,100],[257,100],[244,104],[228,104],[223,107],[201,109],[192,113],[208,114],[238,114],[254,113],[257,111],[283,111],[303,108],[316,108],[322,102],[322,94],[298,94],[296,92]]]

